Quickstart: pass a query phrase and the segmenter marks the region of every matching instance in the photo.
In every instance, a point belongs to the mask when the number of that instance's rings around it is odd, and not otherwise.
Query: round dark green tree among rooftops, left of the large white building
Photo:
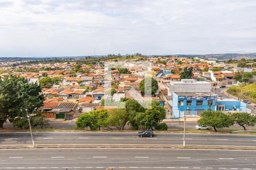
[[[151,79],[151,82],[150,82],[150,79]],[[158,91],[158,82],[154,78],[146,78],[146,86],[145,86],[145,79],[143,79],[139,83],[139,90],[141,90],[142,94],[144,94],[145,91],[148,92],[151,90],[151,94],[154,95]]]

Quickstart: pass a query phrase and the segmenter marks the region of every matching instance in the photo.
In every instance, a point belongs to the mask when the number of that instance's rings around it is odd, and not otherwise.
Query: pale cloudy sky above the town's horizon
[[[256,52],[255,0],[0,0],[0,57]]]

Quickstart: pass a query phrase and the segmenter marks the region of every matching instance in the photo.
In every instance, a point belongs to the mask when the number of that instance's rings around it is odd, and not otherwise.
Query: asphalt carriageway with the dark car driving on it
[[[35,144],[182,145],[182,133],[155,133],[140,138],[137,132],[37,132]],[[187,145],[256,146],[256,135],[187,134]],[[0,133],[0,145],[30,145],[30,133]]]

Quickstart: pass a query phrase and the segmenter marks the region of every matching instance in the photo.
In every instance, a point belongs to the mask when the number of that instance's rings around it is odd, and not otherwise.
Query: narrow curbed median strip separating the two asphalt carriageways
[[[217,145],[0,145],[1,149],[24,149],[24,148],[176,148],[198,150],[251,150],[256,151],[254,146],[217,146]]]

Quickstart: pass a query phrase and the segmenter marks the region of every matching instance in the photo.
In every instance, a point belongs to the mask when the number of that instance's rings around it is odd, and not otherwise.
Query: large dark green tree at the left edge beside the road
[[[5,76],[0,79],[0,128],[10,118],[14,121],[17,116],[26,117],[25,109],[32,113],[35,108],[43,105],[42,88],[35,83],[28,83],[20,76]]]

